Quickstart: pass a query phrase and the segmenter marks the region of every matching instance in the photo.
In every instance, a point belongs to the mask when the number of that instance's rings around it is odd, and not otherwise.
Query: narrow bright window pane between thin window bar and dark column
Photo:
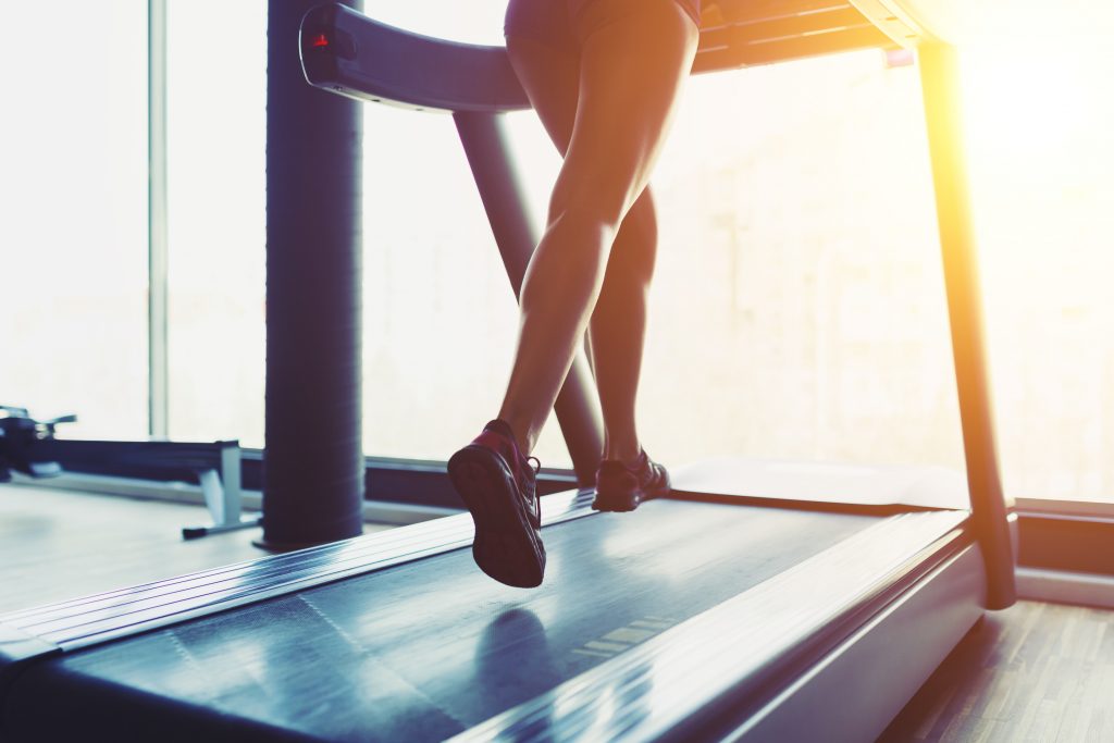
[[[262,447],[266,2],[167,6],[170,438]]]

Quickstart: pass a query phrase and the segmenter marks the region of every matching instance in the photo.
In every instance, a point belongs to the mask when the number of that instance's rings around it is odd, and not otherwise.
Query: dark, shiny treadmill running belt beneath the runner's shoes
[[[19,707],[90,714],[90,684],[108,690],[91,714],[109,724],[175,700],[214,732],[233,715],[328,740],[441,740],[877,520],[655,500],[547,527],[540,588],[502,586],[458,549],[63,655]]]

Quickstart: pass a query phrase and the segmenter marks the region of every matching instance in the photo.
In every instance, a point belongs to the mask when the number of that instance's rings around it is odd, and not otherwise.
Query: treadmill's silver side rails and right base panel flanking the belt
[[[546,497],[545,526],[593,515],[592,497],[587,490]],[[519,740],[539,725],[558,737],[597,740],[798,740],[786,737],[791,731],[802,740],[819,731],[825,740],[872,737],[981,615],[985,573],[969,527],[969,515],[958,510],[879,518],[460,740]],[[460,515],[6,615],[0,700],[18,696],[25,674],[36,685],[79,683],[55,678],[51,657],[463,549],[471,536],[470,518]],[[897,662],[896,647],[902,648]],[[654,693],[635,695],[632,686]],[[609,707],[615,698],[626,702],[623,714]],[[166,704],[149,692],[126,700]],[[26,724],[18,722],[19,705],[4,708],[6,717],[16,715],[6,727]],[[227,710],[195,712],[202,727],[258,724]]]

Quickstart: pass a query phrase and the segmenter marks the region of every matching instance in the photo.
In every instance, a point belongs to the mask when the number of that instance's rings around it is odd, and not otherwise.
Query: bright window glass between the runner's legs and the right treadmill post
[[[691,81],[655,178],[649,450],[961,466],[919,95],[877,51]]]

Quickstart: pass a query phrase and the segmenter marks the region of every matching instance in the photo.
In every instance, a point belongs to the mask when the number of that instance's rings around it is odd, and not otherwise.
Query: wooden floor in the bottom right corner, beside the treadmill
[[[879,741],[1114,741],[1114,612],[987,614]]]

